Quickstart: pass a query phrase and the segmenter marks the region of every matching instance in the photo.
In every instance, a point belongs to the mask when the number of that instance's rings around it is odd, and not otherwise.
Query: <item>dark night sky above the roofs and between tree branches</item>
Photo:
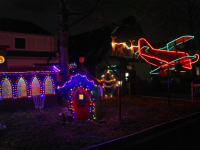
[[[75,1],[76,0],[74,0],[74,2]],[[79,0],[79,1],[88,2],[90,0]],[[107,0],[106,2],[112,3],[112,5],[110,5],[111,7],[113,8],[115,7],[114,9],[115,12],[112,12],[112,14],[110,14],[111,18],[115,18],[116,16],[118,16],[118,18],[124,19],[130,15],[133,15],[134,13],[131,14],[130,12],[127,12],[127,9],[124,7],[124,5],[122,5],[122,2],[127,3],[128,1],[138,2],[137,0],[136,1]],[[144,14],[142,14],[144,16],[148,16],[148,15],[152,16],[151,14],[152,9],[148,5],[146,5],[146,8],[142,6],[142,4],[145,4],[147,1],[148,0],[140,0],[139,2],[141,3],[141,7],[139,7],[138,10],[142,10],[144,12],[146,11]],[[151,1],[151,2],[154,2],[154,1]],[[198,1],[196,0],[196,2]],[[155,4],[156,3],[152,5],[155,5]],[[180,6],[182,7],[182,5]],[[134,4],[132,5],[132,8],[134,10]],[[36,25],[39,25],[40,27],[53,33],[54,35],[59,35],[57,31],[58,25],[60,23],[60,19],[57,17],[58,12],[59,12],[58,0],[0,0],[0,17],[31,21],[35,23]],[[179,15],[175,17],[179,17]],[[148,17],[146,19],[148,20]],[[197,18],[194,18],[194,19],[197,19]],[[168,20],[168,22],[171,22],[171,20]],[[180,34],[176,34],[174,31],[171,30],[171,28],[168,28],[166,32],[165,28],[161,28],[162,30],[160,30],[157,27],[155,27],[155,25],[153,24],[148,26],[144,22],[144,20],[142,22],[138,21],[138,23],[142,27],[143,31],[145,32],[146,36],[149,38],[151,43],[157,43],[159,41],[167,42],[168,40],[173,40],[174,38],[177,38],[181,36],[182,34],[183,35],[188,34],[188,32],[184,32],[186,30],[185,27],[181,29]],[[177,26],[178,25],[179,24],[177,23]],[[199,28],[198,24],[196,27]],[[93,30],[95,28],[100,28],[98,23],[91,26],[90,22],[84,22],[84,23],[78,24],[77,26],[74,26],[72,30],[70,31],[70,35],[73,36],[76,34],[84,33],[88,30]],[[178,30],[179,28],[177,27],[177,31]],[[166,33],[168,34],[168,38],[165,38]],[[197,33],[196,29],[195,29],[195,33]]]

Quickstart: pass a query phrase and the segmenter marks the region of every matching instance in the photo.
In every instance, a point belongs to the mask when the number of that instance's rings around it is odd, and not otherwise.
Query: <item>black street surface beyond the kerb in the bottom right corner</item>
[[[129,149],[134,150],[199,150],[200,121],[151,139]]]

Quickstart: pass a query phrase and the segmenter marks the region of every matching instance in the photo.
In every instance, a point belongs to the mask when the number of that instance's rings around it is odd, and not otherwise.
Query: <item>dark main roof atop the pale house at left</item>
[[[30,21],[11,18],[0,18],[0,31],[53,35],[49,31],[39,27],[38,25]]]

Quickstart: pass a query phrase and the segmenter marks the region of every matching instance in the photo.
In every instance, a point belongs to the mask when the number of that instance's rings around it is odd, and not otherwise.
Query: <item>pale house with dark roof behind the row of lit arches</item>
[[[0,18],[0,45],[7,45],[7,66],[59,63],[57,36],[32,22]]]

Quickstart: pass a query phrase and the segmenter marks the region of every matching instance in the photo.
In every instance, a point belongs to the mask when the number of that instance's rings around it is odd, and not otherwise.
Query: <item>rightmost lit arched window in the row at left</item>
[[[45,77],[43,86],[44,95],[55,94],[55,84],[53,82],[53,79],[49,75]]]

